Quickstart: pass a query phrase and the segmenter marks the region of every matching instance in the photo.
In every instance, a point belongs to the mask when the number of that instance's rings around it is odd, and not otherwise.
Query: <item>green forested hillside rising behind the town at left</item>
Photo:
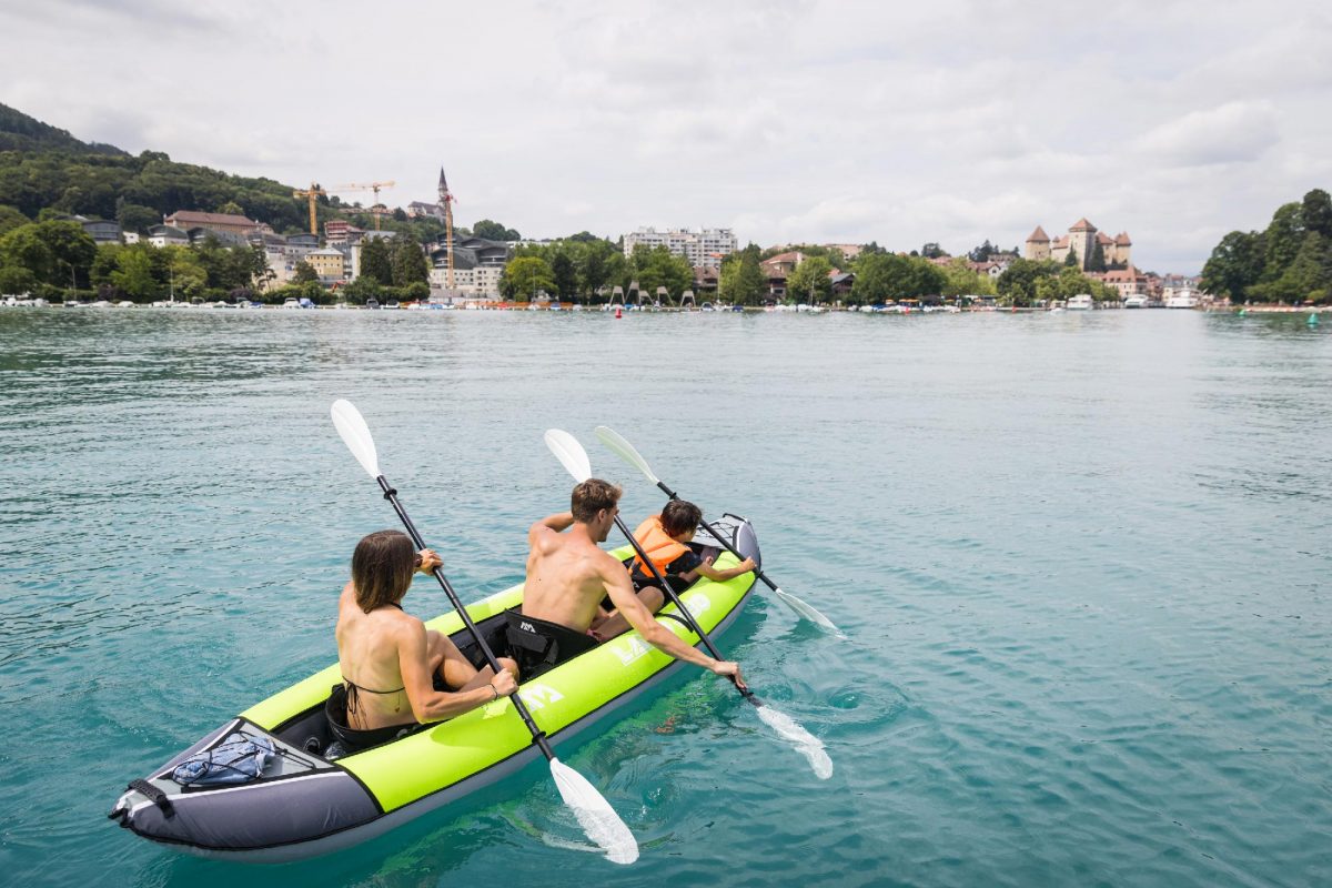
[[[306,230],[309,206],[292,197],[292,185],[272,178],[180,164],[161,152],[131,156],[111,145],[81,142],[0,105],[0,234],[43,212],[116,220],[127,232],[144,232],[182,209],[241,213],[282,233]],[[321,226],[329,218],[374,225],[374,217],[337,197],[320,197],[317,212]],[[442,226],[433,220],[409,222],[396,213],[384,220],[384,228],[426,240]]]

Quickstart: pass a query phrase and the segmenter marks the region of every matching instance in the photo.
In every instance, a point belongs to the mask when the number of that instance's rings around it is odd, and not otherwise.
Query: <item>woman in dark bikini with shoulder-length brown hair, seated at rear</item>
[[[489,666],[478,672],[448,635],[404,612],[413,574],[441,563],[429,549],[416,553],[398,530],[370,534],[352,555],[352,580],[338,600],[337,654],[346,724],[366,735],[357,743],[374,746],[392,739],[392,728],[440,722],[517,690],[513,660],[501,658],[498,676]],[[456,690],[436,691],[436,675]]]

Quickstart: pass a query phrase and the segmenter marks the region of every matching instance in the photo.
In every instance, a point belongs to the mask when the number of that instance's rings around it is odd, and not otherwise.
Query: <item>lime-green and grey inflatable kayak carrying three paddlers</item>
[[[759,562],[758,539],[746,519],[726,515],[715,527],[737,551]],[[703,529],[693,547],[715,556],[718,567],[737,563]],[[627,558],[631,551],[626,547],[615,554]],[[754,574],[722,583],[701,579],[681,599],[715,638],[735,620],[753,586]],[[521,602],[519,584],[468,607],[497,652],[506,647],[505,611]],[[699,643],[674,604],[663,607],[657,620],[687,644]],[[478,646],[457,614],[426,626],[448,632],[465,655],[481,662]],[[698,671],[630,631],[525,680],[518,694],[537,726],[558,744],[682,668]],[[334,663],[241,712],[132,781],[108,816],[145,839],[204,857],[284,863],[378,836],[541,755],[510,700],[502,698],[338,758],[325,703],[340,683]],[[256,750],[256,755],[220,766],[233,772],[226,777],[232,781],[192,779],[208,770],[201,762],[221,762],[228,751],[241,747]]]

